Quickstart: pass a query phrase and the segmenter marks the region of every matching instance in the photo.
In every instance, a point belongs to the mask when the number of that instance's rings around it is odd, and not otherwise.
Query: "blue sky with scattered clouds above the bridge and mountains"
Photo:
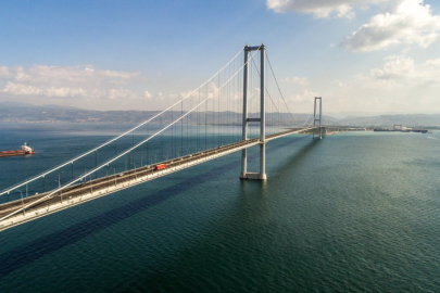
[[[0,4],[0,102],[162,110],[264,42],[294,113],[440,113],[438,0]]]

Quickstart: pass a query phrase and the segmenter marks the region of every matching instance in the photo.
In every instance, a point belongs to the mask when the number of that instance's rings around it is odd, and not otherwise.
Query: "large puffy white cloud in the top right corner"
[[[440,16],[433,15],[423,0],[401,0],[389,5],[390,12],[373,16],[342,47],[352,51],[377,51],[397,44],[416,43],[427,48],[440,40]]]

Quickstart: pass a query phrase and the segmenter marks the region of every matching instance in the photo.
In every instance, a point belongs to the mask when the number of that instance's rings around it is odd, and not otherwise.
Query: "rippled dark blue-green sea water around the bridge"
[[[0,188],[126,128],[0,125],[0,149],[38,151],[0,160]],[[439,151],[438,131],[282,138],[266,182],[237,153],[0,232],[0,292],[440,292]]]

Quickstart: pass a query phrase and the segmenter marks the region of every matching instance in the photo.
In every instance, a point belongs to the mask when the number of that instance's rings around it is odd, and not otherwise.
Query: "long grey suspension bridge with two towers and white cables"
[[[241,179],[266,180],[266,143],[293,133],[323,137],[322,98],[292,114],[264,44],[246,46],[197,89],[124,133],[0,192],[0,231],[241,152]],[[260,148],[248,171],[248,149]],[[23,194],[24,193],[24,194]]]

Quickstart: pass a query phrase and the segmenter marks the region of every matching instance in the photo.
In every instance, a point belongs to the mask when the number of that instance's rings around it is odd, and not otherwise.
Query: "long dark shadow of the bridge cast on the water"
[[[285,143],[280,143],[266,149],[266,154],[276,152],[281,148],[286,148],[296,141],[310,139],[310,136],[290,139]],[[304,153],[315,145],[316,141],[311,141],[305,145],[296,157],[301,157]],[[248,156],[249,161],[257,160],[260,153],[254,153]],[[293,158],[294,160],[294,158]],[[291,161],[288,162],[290,164]],[[223,165],[219,168],[212,169],[203,175],[192,177],[184,182],[179,182],[175,186],[166,188],[164,190],[149,194],[142,199],[127,203],[123,206],[116,207],[112,211],[105,212],[98,216],[91,217],[87,220],[75,224],[62,231],[56,231],[51,234],[41,237],[32,241],[24,246],[18,246],[9,252],[0,255],[0,278],[13,272],[14,270],[32,264],[39,258],[49,255],[58,250],[61,250],[67,245],[71,245],[86,237],[97,233],[105,228],[111,227],[126,218],[134,216],[135,214],[147,211],[148,208],[163,203],[176,195],[179,195],[188,190],[212,181],[222,174],[229,171],[234,168],[238,168],[241,164],[240,160],[236,160],[231,163]],[[62,213],[62,212],[61,212]]]

